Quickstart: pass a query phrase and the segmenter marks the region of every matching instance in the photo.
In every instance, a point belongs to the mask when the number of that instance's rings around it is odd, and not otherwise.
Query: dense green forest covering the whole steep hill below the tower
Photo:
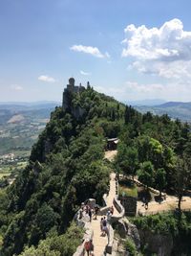
[[[3,256],[73,255],[82,237],[74,213],[87,198],[101,204],[108,191],[107,137],[120,139],[114,163],[118,173],[138,175],[146,185],[180,199],[191,189],[188,124],[167,115],[142,115],[91,86],[66,94],[68,107],[55,108],[28,166],[0,191]],[[77,108],[83,109],[81,115],[74,114]]]

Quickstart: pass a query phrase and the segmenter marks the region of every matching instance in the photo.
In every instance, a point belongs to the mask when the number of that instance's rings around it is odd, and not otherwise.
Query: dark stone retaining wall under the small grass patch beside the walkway
[[[125,208],[125,215],[136,216],[137,213],[137,198],[133,197],[119,197],[119,200]]]

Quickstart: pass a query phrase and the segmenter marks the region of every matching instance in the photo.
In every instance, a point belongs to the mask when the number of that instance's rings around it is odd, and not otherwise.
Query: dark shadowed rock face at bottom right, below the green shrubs
[[[158,256],[170,256],[173,249],[173,238],[169,235],[154,234],[150,231],[138,230],[140,243],[148,244],[148,249]]]

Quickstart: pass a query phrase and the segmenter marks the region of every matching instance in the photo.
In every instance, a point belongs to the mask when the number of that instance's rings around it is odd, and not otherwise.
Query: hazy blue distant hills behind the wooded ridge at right
[[[168,114],[173,119],[179,118],[181,121],[191,122],[191,102],[168,102],[162,105],[135,105],[134,107],[141,113],[150,111],[157,115]]]

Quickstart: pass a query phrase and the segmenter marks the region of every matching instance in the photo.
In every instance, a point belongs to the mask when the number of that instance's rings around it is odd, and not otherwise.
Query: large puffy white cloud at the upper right
[[[122,57],[134,59],[131,68],[167,79],[190,78],[191,32],[183,31],[180,19],[167,21],[159,29],[131,24],[124,32]]]

